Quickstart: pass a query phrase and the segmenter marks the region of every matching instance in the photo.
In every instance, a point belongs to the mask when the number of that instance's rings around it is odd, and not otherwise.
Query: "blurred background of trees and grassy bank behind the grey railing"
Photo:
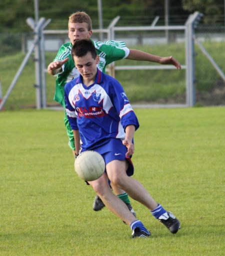
[[[139,49],[154,55],[172,55],[182,65],[175,69],[115,69],[114,76],[120,81],[127,96],[135,104],[153,106],[186,103],[186,32],[185,25],[190,15],[199,12],[194,26],[194,105],[225,104],[225,1],[224,0],[124,0],[117,1],[0,1],[0,100],[12,84],[35,33],[27,24],[31,18],[36,24],[44,18],[44,63],[54,59],[60,45],[68,42],[67,23],[71,13],[85,11],[92,20],[93,39],[105,41],[107,29],[116,19],[114,40],[124,41],[128,48]],[[149,27],[154,30],[131,30],[130,27]],[[157,29],[164,27],[164,29]],[[180,29],[166,29],[166,28]],[[183,29],[184,28],[184,29]],[[190,53],[192,54],[192,53]],[[126,65],[151,65],[122,60],[116,67]],[[152,65],[155,65],[152,63]],[[57,106],[53,101],[55,78],[45,73],[46,107]],[[21,74],[16,79],[4,109],[36,107],[36,56],[30,55]]]

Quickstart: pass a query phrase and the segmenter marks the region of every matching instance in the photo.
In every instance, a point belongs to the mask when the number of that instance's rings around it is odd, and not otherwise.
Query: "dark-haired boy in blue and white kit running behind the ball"
[[[146,206],[171,233],[176,233],[180,228],[178,219],[156,203],[147,190],[130,177],[133,174],[130,159],[134,153],[133,135],[139,123],[122,86],[97,68],[99,56],[91,41],[77,41],[71,55],[80,75],[65,85],[64,92],[75,151],[78,154],[93,150],[101,154],[105,161],[105,173],[95,181],[88,181],[88,184],[104,205],[130,226],[132,237],[149,237],[151,234],[112,193],[108,179]]]

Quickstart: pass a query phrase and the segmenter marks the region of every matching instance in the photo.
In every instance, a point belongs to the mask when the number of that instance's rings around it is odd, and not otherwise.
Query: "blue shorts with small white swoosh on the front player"
[[[93,150],[98,152],[104,159],[105,165],[113,160],[126,160],[128,162],[128,168],[126,174],[132,176],[134,172],[134,167],[130,157],[126,157],[127,152],[126,146],[122,144],[120,139],[110,138],[101,142],[100,146],[92,147],[88,150]],[[81,150],[82,152],[82,150]]]

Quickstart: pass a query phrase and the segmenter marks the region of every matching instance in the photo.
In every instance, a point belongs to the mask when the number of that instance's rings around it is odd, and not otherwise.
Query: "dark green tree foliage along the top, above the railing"
[[[166,0],[102,0],[103,26],[116,16],[119,25],[149,25],[159,16],[158,25],[164,24],[164,4]],[[182,24],[193,11],[205,15],[210,23],[218,22],[224,12],[223,0],[167,0],[169,3],[169,24]],[[26,18],[35,18],[35,0],[0,0],[0,32],[30,31]],[[85,11],[92,19],[93,28],[98,27],[97,0],[48,0],[38,1],[39,17],[51,19],[48,29],[65,29],[68,16],[76,11]],[[182,21],[181,18],[183,17]],[[220,19],[221,20],[221,19]],[[223,19],[224,21],[224,19]]]

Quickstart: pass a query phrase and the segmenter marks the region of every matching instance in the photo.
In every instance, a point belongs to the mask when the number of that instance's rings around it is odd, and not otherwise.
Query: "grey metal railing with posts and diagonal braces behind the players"
[[[196,83],[196,62],[198,62],[198,56],[196,57],[196,45],[201,50],[201,52],[206,56],[207,60],[210,61],[214,69],[219,74],[221,80],[224,84],[224,69],[221,69],[221,66],[216,64],[216,61],[210,56],[210,53],[207,52],[207,50],[204,48],[203,44],[201,43],[201,39],[198,39],[196,36],[196,28],[198,25],[199,20],[201,19],[202,15],[198,12],[195,12],[194,14],[190,15],[185,23],[184,26],[155,26],[157,19],[155,19],[151,26],[139,26],[139,27],[116,27],[116,23],[119,19],[119,17],[116,17],[111,24],[108,26],[107,29],[96,29],[93,30],[93,36],[104,34],[104,38],[106,40],[119,40],[119,33],[123,35],[123,38],[125,41],[126,36],[128,34],[134,34],[135,39],[137,39],[136,33],[143,33],[142,41],[145,39],[146,33],[150,33],[150,37],[154,37],[157,33],[163,33],[164,31],[169,31],[172,33],[177,33],[179,36],[182,32],[182,38],[179,39],[178,36],[176,36],[176,40],[181,40],[184,43],[185,46],[185,61],[182,64],[182,69],[185,71],[185,102],[182,104],[173,104],[172,106],[193,106],[195,105],[196,101],[198,101],[198,91],[196,91],[196,85],[198,87],[199,83]],[[28,20],[28,24],[33,29],[33,39],[31,40],[31,45],[28,49],[28,52],[26,53],[26,56],[24,57],[18,71],[16,72],[14,78],[12,79],[12,82],[7,90],[6,93],[4,93],[4,97],[0,103],[0,109],[2,109],[4,103],[6,102],[7,98],[9,97],[9,94],[11,93],[15,83],[17,82],[22,70],[24,69],[27,60],[30,58],[31,53],[34,52],[34,63],[35,63],[35,91],[36,91],[36,108],[45,108],[46,107],[46,82],[45,82],[45,42],[46,38],[50,35],[66,35],[67,37],[67,30],[45,30],[44,28],[50,21],[45,21],[45,19],[41,18],[37,25],[34,23],[34,21]],[[223,29],[224,31],[224,29]],[[198,32],[199,33],[199,32]],[[205,33],[205,32],[204,32]],[[153,36],[152,36],[153,35]],[[202,35],[201,35],[202,37]],[[129,37],[127,37],[128,40]],[[164,40],[164,38],[163,38]],[[166,39],[168,40],[168,39]],[[220,38],[219,38],[220,40]],[[223,39],[222,39],[223,40]],[[217,40],[218,41],[218,40]],[[17,42],[17,41],[16,41]],[[23,42],[24,43],[24,42]],[[164,45],[166,45],[166,42],[163,42]],[[169,43],[169,42],[167,42]],[[22,49],[25,49],[25,47],[22,47]],[[115,63],[112,63],[108,66],[107,71],[110,75],[114,76],[115,72],[119,71],[128,71],[128,70],[169,70],[174,69],[173,66],[170,65],[118,65]],[[199,80],[199,78],[198,78]],[[220,83],[221,84],[221,83]],[[222,86],[223,86],[222,85]],[[198,90],[198,88],[197,88]],[[224,95],[225,97],[225,95]],[[163,106],[163,107],[171,107],[169,104],[153,104],[153,106]]]

